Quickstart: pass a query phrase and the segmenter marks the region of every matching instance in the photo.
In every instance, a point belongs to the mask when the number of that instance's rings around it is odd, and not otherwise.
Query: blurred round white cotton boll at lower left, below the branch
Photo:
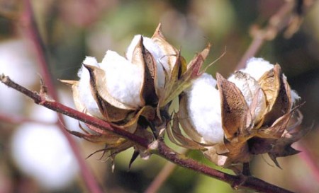
[[[35,107],[31,117],[47,122],[57,118],[43,107]],[[54,124],[21,124],[11,139],[11,153],[18,168],[45,189],[66,187],[79,169],[65,136]]]

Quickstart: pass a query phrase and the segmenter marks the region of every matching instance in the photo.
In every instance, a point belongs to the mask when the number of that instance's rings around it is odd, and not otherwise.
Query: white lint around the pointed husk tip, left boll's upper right
[[[130,42],[130,45],[128,46],[126,57],[130,62],[132,62],[134,49],[138,45],[141,37],[142,35],[135,35],[132,42]],[[164,52],[162,52],[162,49],[160,49],[160,47],[149,37],[143,37],[143,45],[152,54],[157,65],[157,83],[155,83],[156,88],[164,88],[165,74],[163,67],[168,74],[170,74],[171,71],[167,57],[164,57]]]

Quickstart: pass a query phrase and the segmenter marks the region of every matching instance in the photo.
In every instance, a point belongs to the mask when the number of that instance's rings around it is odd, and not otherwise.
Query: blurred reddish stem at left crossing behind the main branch
[[[43,76],[43,79],[47,86],[47,90],[52,96],[52,98],[58,101],[57,90],[55,88],[54,82],[52,81],[52,75],[50,74],[49,65],[47,64],[47,56],[44,52],[45,46],[40,37],[38,27],[35,23],[33,9],[30,0],[24,1],[23,13],[21,15],[21,25],[23,27],[23,33],[26,34],[27,39],[30,40],[31,45],[33,45],[35,54],[38,59],[38,65],[40,67],[41,76]],[[65,138],[67,139],[69,146],[71,147],[72,152],[74,153],[74,156],[77,159],[77,163],[79,164],[79,168],[81,168],[80,172],[86,185],[86,188],[89,190],[89,192],[101,193],[101,187],[99,187],[94,178],[94,175],[91,173],[86,163],[84,162],[84,158],[82,158],[82,155],[79,151],[79,147],[77,146],[72,136],[69,135],[67,131],[64,129],[65,119],[62,117],[60,113],[58,113],[57,116],[58,119],[60,119],[60,122],[57,122],[57,126],[65,135]]]

